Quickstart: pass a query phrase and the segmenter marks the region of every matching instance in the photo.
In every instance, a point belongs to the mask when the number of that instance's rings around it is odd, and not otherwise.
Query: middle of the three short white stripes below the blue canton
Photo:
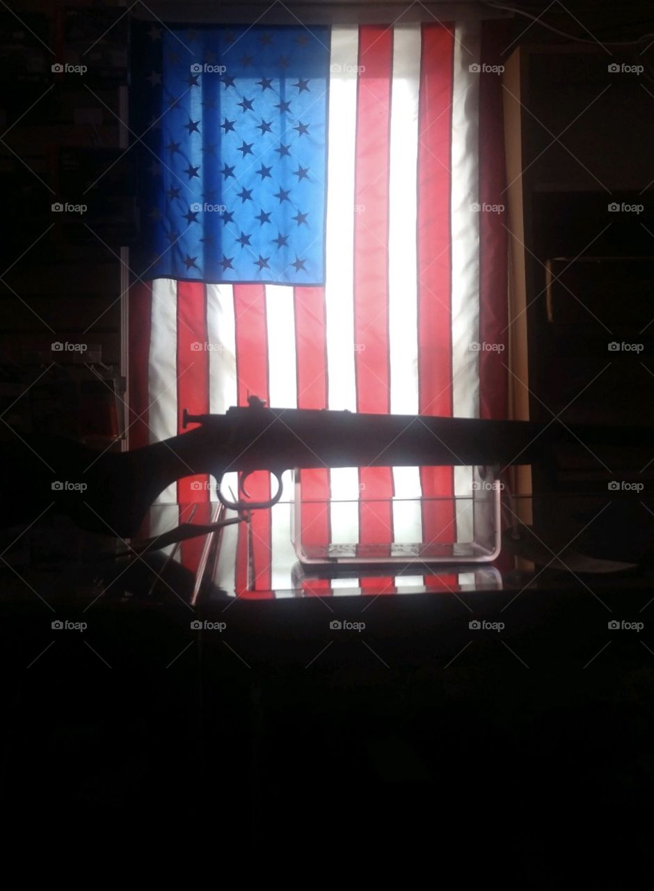
[[[236,380],[236,327],[234,319],[233,286],[231,284],[207,285],[207,338],[209,353],[209,412],[224,414],[228,408],[238,405]],[[237,491],[238,476],[225,473],[222,488],[229,498],[230,488]],[[212,495],[212,498],[215,498]],[[225,519],[235,517],[235,511],[226,511]],[[220,541],[220,560],[214,580],[229,594],[234,593],[236,545],[239,526],[225,526]]]

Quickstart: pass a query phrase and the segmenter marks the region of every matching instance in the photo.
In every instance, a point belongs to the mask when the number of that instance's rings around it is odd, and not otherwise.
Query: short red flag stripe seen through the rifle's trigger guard
[[[248,405],[248,396],[268,402],[268,331],[266,289],[259,284],[234,285],[236,320],[236,380],[239,405]],[[270,474],[257,470],[248,477],[246,488],[252,501],[270,500]],[[236,493],[234,493],[236,495]],[[249,536],[249,528],[251,535]],[[251,548],[249,547],[249,538]],[[236,593],[241,595],[256,584],[257,590],[271,585],[272,559],[270,511],[253,511],[249,524],[239,525],[236,548]]]

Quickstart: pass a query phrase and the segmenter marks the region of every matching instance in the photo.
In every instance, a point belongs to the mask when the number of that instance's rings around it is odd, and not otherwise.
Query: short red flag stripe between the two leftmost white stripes
[[[177,282],[177,430],[184,432],[182,413],[205,414],[209,410],[207,304],[203,282]],[[200,348],[198,348],[200,346]],[[186,429],[192,429],[195,424]],[[180,522],[188,520],[188,505],[208,507],[208,476],[188,476],[177,481]],[[205,512],[203,518],[206,518]],[[194,522],[201,522],[199,509]],[[207,520],[208,521],[208,520]],[[201,539],[182,544],[182,564],[194,572],[202,550]]]

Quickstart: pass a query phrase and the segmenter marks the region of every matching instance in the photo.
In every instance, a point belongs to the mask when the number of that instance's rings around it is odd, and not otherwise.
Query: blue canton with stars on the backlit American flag
[[[324,282],[329,41],[303,27],[135,34],[141,278]]]

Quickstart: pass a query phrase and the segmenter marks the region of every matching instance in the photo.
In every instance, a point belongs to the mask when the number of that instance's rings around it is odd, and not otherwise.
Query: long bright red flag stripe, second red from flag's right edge
[[[454,28],[422,25],[418,143],[419,411],[452,414],[451,169]],[[449,467],[421,470],[425,498],[451,498]],[[454,542],[454,504],[425,503],[426,542]]]

